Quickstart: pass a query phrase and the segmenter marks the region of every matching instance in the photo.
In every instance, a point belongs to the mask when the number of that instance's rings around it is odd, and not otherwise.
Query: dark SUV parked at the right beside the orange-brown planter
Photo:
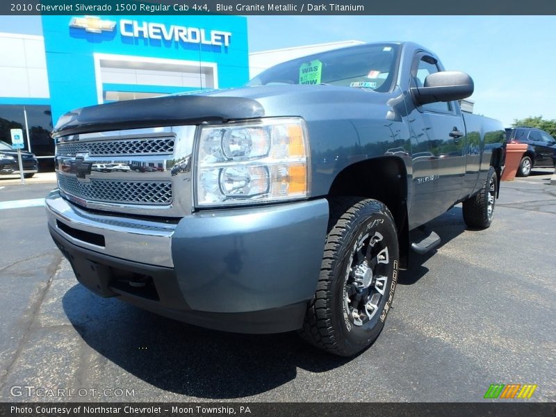
[[[528,177],[532,168],[552,168],[556,165],[556,140],[546,131],[525,126],[506,129],[506,142],[527,145],[519,163],[519,177]]]

